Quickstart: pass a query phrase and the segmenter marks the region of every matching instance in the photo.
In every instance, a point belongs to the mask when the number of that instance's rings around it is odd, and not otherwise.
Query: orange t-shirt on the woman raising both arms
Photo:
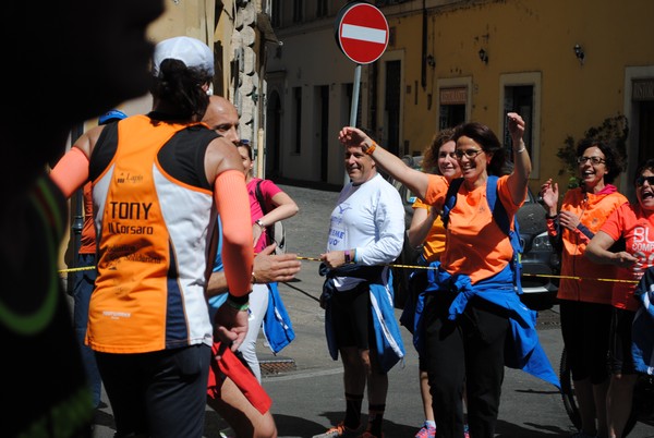
[[[441,209],[449,183],[444,177],[428,175],[425,203]],[[508,175],[497,180],[497,202],[501,202],[513,228],[513,216],[520,205],[513,204],[507,185]],[[449,273],[464,273],[472,283],[500,272],[511,260],[513,247],[509,238],[493,220],[486,198],[486,184],[469,191],[461,184],[457,204],[449,212],[447,245],[440,257]]]

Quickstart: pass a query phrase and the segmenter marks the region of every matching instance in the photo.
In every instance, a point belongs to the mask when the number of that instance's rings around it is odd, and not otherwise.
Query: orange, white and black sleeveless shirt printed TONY
[[[216,209],[204,156],[217,134],[147,115],[105,131],[89,168],[99,238],[86,341],[108,353],[211,345]]]

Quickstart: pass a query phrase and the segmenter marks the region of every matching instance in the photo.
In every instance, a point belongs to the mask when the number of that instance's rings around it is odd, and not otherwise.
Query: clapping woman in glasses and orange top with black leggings
[[[560,211],[558,185],[552,180],[543,184],[541,196],[547,208],[549,236],[561,252],[557,297],[578,398],[580,431],[608,436],[606,352],[613,284],[593,279],[616,278],[617,272],[615,266],[598,266],[584,253],[606,219],[627,202],[611,184],[622,171],[622,160],[614,144],[589,139],[577,146],[577,162],[582,185],[566,193]]]

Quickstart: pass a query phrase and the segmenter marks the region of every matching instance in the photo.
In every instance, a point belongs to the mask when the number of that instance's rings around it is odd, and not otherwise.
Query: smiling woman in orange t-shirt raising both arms
[[[441,263],[429,265],[437,273],[429,276],[428,288],[419,296],[416,305],[421,312],[415,314],[414,343],[427,357],[433,410],[438,434],[444,436],[464,434],[463,392],[468,396],[470,435],[494,433],[505,365],[524,370],[538,369],[537,377],[558,386],[537,340],[535,313],[520,302],[513,290],[517,279],[511,269],[513,247],[509,236],[495,222],[483,196],[488,177],[499,177],[497,202],[504,206],[509,223],[524,202],[531,172],[529,153],[522,139],[524,120],[514,112],[508,113],[508,120],[516,157],[510,174],[502,174],[507,151],[488,126],[464,123],[456,129],[455,154],[463,182],[455,196],[460,199],[449,214]],[[339,139],[347,148],[359,146],[364,151],[370,151],[374,145],[368,135],[353,126],[344,126]],[[380,146],[371,154],[379,168],[425,204],[437,210],[444,208],[450,186],[445,177],[411,169]],[[480,239],[480,235],[484,238]],[[498,303],[504,308],[499,309]],[[483,339],[481,333],[484,333]],[[509,354],[506,362],[505,344],[514,353],[514,356]],[[518,352],[510,349],[510,345],[519,344],[533,345],[533,350]],[[474,354],[469,355],[471,349]]]

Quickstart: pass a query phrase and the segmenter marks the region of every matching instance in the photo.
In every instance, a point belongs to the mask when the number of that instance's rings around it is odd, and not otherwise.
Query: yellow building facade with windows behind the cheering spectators
[[[350,120],[355,66],[335,41],[346,1],[307,0],[300,11],[299,2],[278,3],[272,22],[283,46],[268,58],[268,100],[282,115],[266,125],[281,156],[277,173],[338,184],[336,134]],[[363,66],[358,120],[397,155],[420,154],[435,132],[462,121],[485,123],[504,139],[505,114],[514,110],[529,121],[534,192],[547,178],[567,185],[558,149],[607,118],[621,114],[629,123],[623,193],[637,163],[654,156],[654,2],[376,4],[389,44]],[[267,146],[274,141],[268,135]]]

